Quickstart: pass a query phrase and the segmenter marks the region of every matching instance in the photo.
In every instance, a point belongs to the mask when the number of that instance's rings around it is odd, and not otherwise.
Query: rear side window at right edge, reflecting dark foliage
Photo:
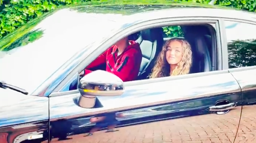
[[[256,25],[225,21],[229,68],[256,65]]]

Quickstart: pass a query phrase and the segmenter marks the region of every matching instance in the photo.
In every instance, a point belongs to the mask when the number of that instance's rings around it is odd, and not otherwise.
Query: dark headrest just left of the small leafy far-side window
[[[141,31],[141,37],[143,40],[154,42],[156,39],[162,37],[162,28],[152,28]]]

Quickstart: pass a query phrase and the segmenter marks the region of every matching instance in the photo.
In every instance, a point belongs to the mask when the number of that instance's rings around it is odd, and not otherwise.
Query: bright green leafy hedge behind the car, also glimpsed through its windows
[[[90,1],[90,2],[89,2]],[[173,0],[182,2],[196,2],[208,4],[210,0]],[[165,0],[0,0],[0,38],[23,26],[30,20],[43,15],[60,6],[100,3],[164,3]],[[248,11],[256,11],[256,0],[218,0],[217,5],[235,7]],[[170,31],[179,31],[179,27],[165,27],[166,34]]]

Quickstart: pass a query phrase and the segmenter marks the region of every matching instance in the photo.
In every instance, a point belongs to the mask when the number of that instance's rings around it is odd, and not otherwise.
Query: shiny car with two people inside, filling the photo
[[[254,13],[205,4],[51,11],[0,40],[0,143],[254,143],[255,33]],[[142,51],[137,80],[104,65],[79,76],[126,36]],[[191,45],[190,73],[149,79],[173,37]]]

